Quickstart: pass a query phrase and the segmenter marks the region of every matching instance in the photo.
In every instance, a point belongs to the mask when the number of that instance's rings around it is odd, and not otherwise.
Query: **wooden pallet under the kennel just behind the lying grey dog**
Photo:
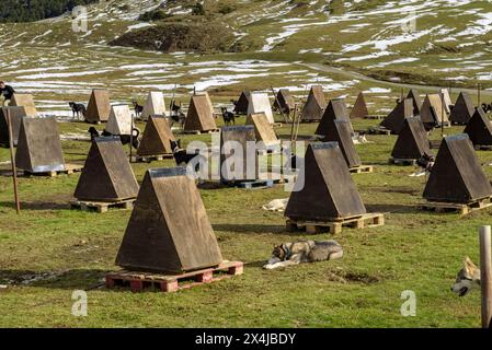
[[[343,226],[355,229],[376,228],[385,224],[385,215],[381,213],[367,213],[358,217],[333,219],[333,221],[302,221],[287,219],[287,230],[302,230],[308,234],[329,232],[337,234],[342,232]]]

